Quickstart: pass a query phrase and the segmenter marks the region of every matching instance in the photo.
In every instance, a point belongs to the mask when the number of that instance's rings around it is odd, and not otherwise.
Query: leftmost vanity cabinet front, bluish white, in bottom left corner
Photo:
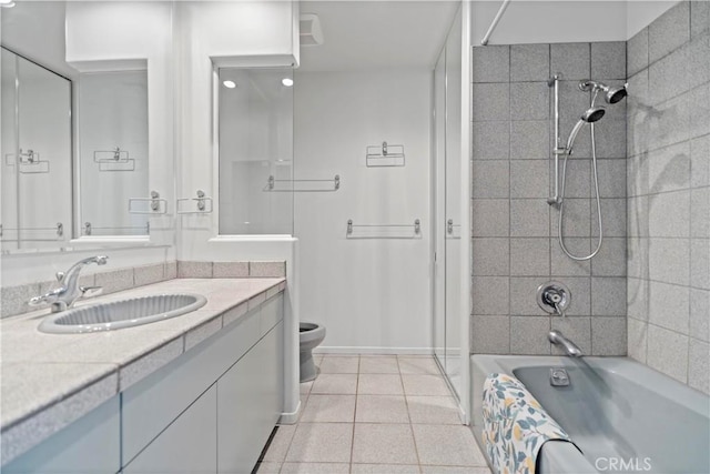
[[[119,397],[2,466],[2,474],[113,474],[121,466]]]

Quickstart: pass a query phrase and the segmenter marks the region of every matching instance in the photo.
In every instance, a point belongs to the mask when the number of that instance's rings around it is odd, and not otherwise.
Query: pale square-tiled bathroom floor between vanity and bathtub
[[[434,359],[317,355],[301,418],[276,431],[258,473],[489,474]]]

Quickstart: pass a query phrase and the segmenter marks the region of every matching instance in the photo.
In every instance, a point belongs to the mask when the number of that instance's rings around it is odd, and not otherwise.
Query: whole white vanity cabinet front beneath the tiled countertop
[[[250,473],[283,411],[283,307],[280,293],[246,314],[227,311],[216,334],[1,472]]]

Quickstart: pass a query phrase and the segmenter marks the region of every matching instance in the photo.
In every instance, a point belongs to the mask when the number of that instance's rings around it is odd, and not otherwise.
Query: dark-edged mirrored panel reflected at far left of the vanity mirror
[[[2,48],[2,251],[71,238],[71,81]]]

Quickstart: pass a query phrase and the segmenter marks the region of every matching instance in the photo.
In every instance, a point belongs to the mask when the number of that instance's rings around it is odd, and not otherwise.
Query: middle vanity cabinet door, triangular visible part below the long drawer
[[[123,474],[216,473],[215,385],[123,468]]]

